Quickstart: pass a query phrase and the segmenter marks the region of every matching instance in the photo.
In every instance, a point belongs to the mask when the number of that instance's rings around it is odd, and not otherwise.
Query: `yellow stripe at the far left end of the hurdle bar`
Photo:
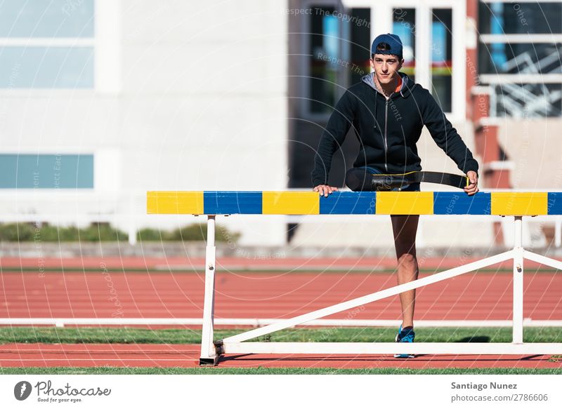
[[[146,212],[159,215],[203,215],[203,192],[147,192]]]

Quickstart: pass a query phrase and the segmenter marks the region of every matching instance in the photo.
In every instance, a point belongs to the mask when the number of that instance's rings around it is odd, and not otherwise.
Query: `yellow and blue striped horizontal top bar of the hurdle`
[[[562,215],[562,192],[148,192],[150,214]]]

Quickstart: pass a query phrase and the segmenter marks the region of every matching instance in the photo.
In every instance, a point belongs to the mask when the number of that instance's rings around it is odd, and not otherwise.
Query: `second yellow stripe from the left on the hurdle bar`
[[[320,194],[317,192],[263,192],[264,215],[318,215]]]

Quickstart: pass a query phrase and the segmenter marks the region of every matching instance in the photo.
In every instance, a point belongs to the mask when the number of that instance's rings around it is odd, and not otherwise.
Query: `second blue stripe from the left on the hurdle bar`
[[[320,196],[321,215],[374,215],[374,192],[334,192]]]

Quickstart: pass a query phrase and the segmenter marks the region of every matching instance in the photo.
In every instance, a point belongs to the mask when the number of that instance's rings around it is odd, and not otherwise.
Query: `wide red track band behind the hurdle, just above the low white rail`
[[[218,273],[215,314],[288,318],[394,285],[390,273]],[[203,287],[202,274],[195,273],[4,272],[0,317],[200,318]],[[562,274],[525,274],[525,318],[562,319],[561,293]],[[464,274],[419,289],[416,319],[507,320],[511,300],[511,274]],[[398,296],[367,304],[353,318],[400,319]]]

